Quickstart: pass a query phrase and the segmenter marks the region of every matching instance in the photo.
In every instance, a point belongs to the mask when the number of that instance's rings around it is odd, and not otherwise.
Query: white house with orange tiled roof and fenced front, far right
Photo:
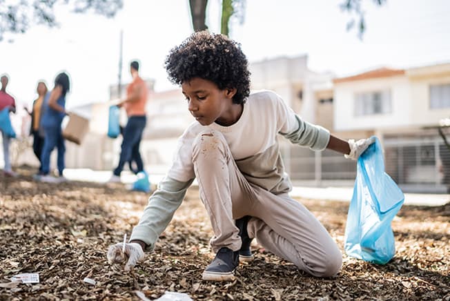
[[[450,116],[450,64],[335,79],[334,99],[335,130],[382,139],[387,173],[404,191],[446,191],[450,152],[438,123]]]

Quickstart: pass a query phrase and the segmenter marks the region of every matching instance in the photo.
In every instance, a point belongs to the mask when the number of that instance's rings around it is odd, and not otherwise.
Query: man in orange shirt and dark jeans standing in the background
[[[147,121],[146,103],[148,90],[145,81],[139,77],[139,63],[137,61],[130,63],[130,72],[133,81],[126,89],[127,97],[117,105],[119,108],[125,108],[128,122],[123,132],[124,139],[121,144],[119,164],[113,171],[110,182],[120,182],[120,173],[124,169],[126,162],[129,162],[132,158],[136,162],[137,173],[144,171],[144,163],[139,153],[139,146]]]

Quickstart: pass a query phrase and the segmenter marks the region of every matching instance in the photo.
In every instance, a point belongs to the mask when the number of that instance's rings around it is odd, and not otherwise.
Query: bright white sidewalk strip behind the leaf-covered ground
[[[86,181],[106,183],[111,176],[111,171],[92,171],[91,169],[70,169],[64,170],[64,176],[72,181]],[[152,174],[149,175],[150,183],[157,184],[164,175]],[[133,173],[124,171],[121,173],[121,181],[124,184],[131,184],[135,181],[136,176]],[[193,185],[197,185],[194,181]],[[335,200],[350,202],[353,195],[353,187],[304,187],[295,186],[290,193],[293,197],[303,197],[312,200]],[[450,202],[450,195],[448,194],[420,194],[420,193],[405,193],[404,205],[415,206],[442,206]]]

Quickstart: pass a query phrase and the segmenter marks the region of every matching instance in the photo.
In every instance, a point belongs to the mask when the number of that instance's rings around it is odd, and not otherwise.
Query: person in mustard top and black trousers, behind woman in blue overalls
[[[27,107],[25,107],[25,110],[31,116],[30,135],[33,136],[33,152],[35,153],[37,159],[39,159],[40,163],[38,175],[42,175],[41,153],[43,148],[43,133],[39,133],[39,127],[41,122],[43,99],[44,97],[46,97],[46,94],[48,92],[47,85],[44,81],[39,81],[37,83],[36,92],[38,97],[37,99],[35,99],[35,101],[33,101],[31,112]]]

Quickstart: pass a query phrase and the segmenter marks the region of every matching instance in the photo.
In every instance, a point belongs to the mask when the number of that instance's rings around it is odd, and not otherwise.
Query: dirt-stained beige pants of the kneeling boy
[[[318,277],[335,275],[342,254],[324,226],[287,193],[274,195],[249,183],[237,168],[224,136],[208,130],[193,146],[199,194],[213,226],[211,247],[241,247],[235,220],[244,215],[248,235],[265,249]]]

